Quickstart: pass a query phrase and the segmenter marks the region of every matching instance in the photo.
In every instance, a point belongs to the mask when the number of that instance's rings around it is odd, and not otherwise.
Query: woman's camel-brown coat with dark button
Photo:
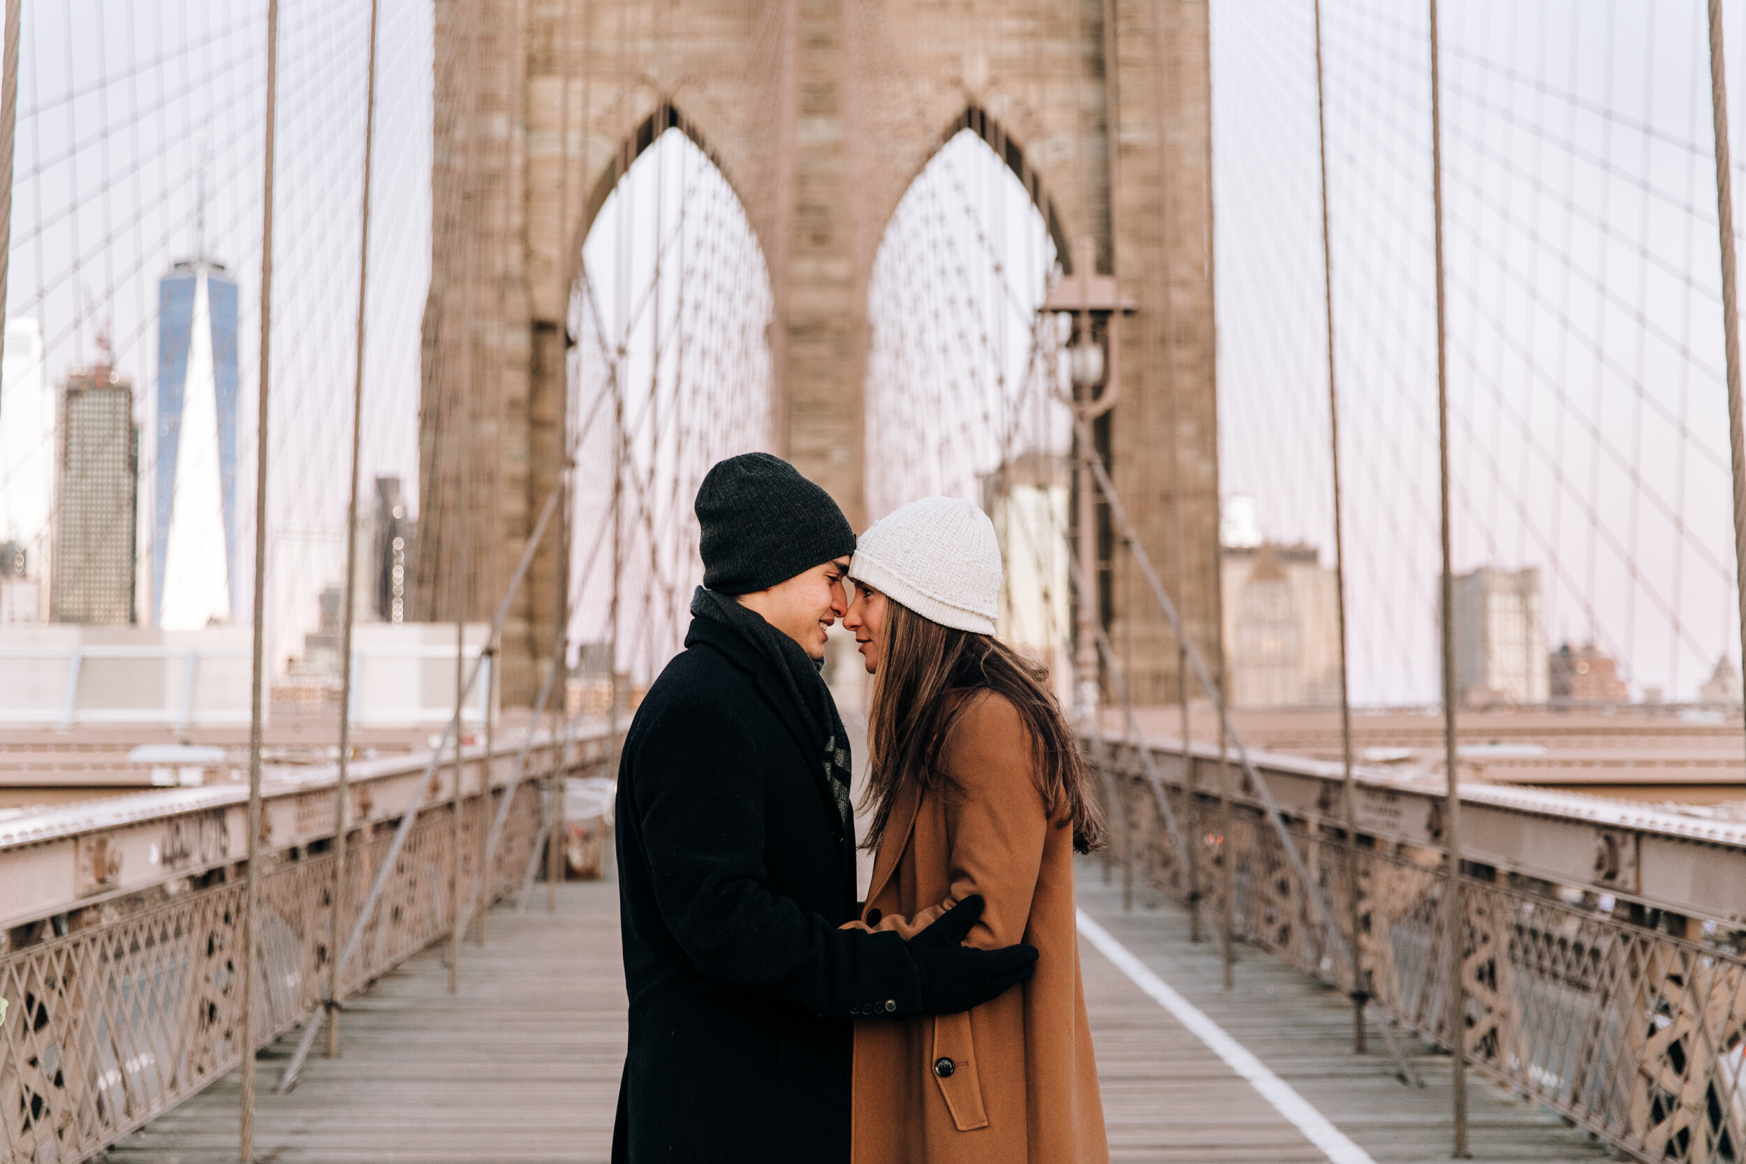
[[[1072,829],[1048,818],[1018,710],[969,698],[941,754],[957,787],[897,792],[861,925],[908,939],[981,894],[967,942],[1030,942],[1037,974],[966,1014],[856,1023],[854,1161],[1103,1164]]]

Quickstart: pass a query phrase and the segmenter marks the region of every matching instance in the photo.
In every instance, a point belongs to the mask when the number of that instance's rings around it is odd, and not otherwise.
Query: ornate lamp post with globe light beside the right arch
[[[1070,314],[1074,335],[1067,346],[1067,373],[1072,396],[1062,403],[1074,410],[1076,468],[1074,490],[1077,511],[1079,578],[1084,593],[1079,595],[1079,616],[1074,628],[1074,717],[1083,729],[1096,729],[1098,705],[1098,569],[1096,569],[1096,483],[1091,475],[1096,448],[1088,436],[1091,422],[1121,400],[1121,363],[1117,325],[1123,314],[1133,311],[1133,300],[1121,295],[1114,276],[1096,274],[1096,241],[1081,237],[1074,246],[1074,274],[1055,284],[1042,300],[1039,312]],[[1102,391],[1100,391],[1102,389]]]

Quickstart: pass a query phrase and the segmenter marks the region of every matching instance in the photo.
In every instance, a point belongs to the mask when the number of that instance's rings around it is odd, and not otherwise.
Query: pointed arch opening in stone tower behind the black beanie
[[[615,674],[634,693],[679,649],[702,581],[697,487],[721,457],[770,440],[770,276],[746,208],[672,106],[622,157],[590,192],[571,258],[571,627],[585,700],[606,698]]]

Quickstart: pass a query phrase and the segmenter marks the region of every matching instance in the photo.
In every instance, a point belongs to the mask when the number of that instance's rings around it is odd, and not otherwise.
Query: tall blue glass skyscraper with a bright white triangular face
[[[229,621],[241,606],[236,312],[222,264],[180,262],[157,284],[152,614],[171,630]]]

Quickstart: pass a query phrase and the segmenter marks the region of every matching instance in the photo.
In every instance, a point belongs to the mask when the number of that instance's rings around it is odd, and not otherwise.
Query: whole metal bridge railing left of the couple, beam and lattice
[[[550,796],[548,773],[592,771],[611,754],[604,733],[585,733],[562,759],[552,740],[540,738],[538,745],[534,770],[541,780],[513,784],[510,770],[519,743],[505,742],[491,757],[470,749],[459,846],[450,820],[454,801],[428,798],[428,808],[414,810],[417,817],[393,855],[381,900],[344,967],[340,996],[450,934],[456,860],[463,881],[473,883],[491,853],[491,867],[484,871],[489,900],[524,885],[552,818],[543,803]],[[339,911],[328,850],[332,787],[327,811],[311,801],[323,785],[320,778],[269,791],[264,820],[279,832],[279,843],[264,845],[269,855],[260,878],[258,1045],[304,1023],[321,1005],[330,960],[389,855],[398,817],[426,799],[407,787],[423,768],[423,757],[410,757],[356,775],[351,791],[358,825],[347,848]],[[499,805],[505,798],[508,803]],[[28,871],[42,869],[30,857],[44,846],[63,845],[66,855],[87,866],[115,866],[77,871],[73,892],[82,904],[66,907],[66,892],[44,885],[37,897],[56,913],[23,923],[16,913],[9,918],[7,946],[0,946],[0,998],[9,1002],[0,1023],[0,1161],[7,1164],[89,1159],[243,1059],[244,862],[232,855],[243,846],[227,836],[222,810],[204,801],[185,808],[164,803],[164,811],[145,820],[138,811],[117,808],[113,818],[86,829],[59,831],[35,843],[19,839],[12,848],[0,843],[0,880],[12,880],[14,887],[33,880],[24,876]],[[499,817],[501,832],[487,848]],[[112,881],[115,892],[105,892],[103,874],[119,873],[131,852],[122,839],[107,838],[141,829],[157,829],[166,838],[152,850],[157,876],[143,885]],[[171,860],[173,836],[204,839],[183,845],[187,852]]]

